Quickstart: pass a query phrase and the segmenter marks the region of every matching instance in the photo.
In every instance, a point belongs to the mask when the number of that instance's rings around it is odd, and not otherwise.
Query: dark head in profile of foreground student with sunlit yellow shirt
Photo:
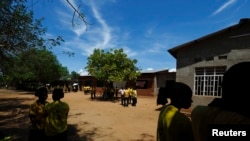
[[[193,102],[192,94],[192,89],[188,85],[182,82],[175,82],[169,94],[171,104],[179,109],[188,109]]]

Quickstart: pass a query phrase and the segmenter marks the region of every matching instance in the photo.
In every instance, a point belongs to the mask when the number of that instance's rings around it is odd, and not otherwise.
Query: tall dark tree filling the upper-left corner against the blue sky
[[[60,45],[64,41],[42,37],[46,29],[42,27],[43,19],[33,19],[33,12],[25,6],[26,0],[0,1],[0,71],[5,71],[6,63],[19,53],[34,48],[45,49]]]

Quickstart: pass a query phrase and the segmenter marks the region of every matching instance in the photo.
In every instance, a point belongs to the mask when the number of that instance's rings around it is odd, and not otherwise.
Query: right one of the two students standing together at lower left
[[[63,97],[63,89],[55,88],[52,94],[53,102],[45,106],[45,133],[48,141],[67,141],[69,105],[61,101]]]

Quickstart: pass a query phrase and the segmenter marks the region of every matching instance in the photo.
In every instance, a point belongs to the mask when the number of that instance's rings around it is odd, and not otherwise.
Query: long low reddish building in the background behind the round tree
[[[137,78],[136,82],[120,83],[123,85],[114,84],[118,88],[121,86],[136,87],[139,96],[156,96],[160,87],[165,87],[168,83],[175,81],[175,72],[169,72],[168,69],[158,71],[143,71]],[[78,78],[80,87],[96,86],[97,93],[102,93],[103,82],[98,81],[93,76],[80,76]]]

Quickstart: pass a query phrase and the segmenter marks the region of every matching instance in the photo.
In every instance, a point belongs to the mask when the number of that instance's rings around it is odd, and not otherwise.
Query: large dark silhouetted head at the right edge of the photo
[[[244,104],[249,102],[250,62],[241,62],[231,66],[223,76],[222,99],[228,102]]]

